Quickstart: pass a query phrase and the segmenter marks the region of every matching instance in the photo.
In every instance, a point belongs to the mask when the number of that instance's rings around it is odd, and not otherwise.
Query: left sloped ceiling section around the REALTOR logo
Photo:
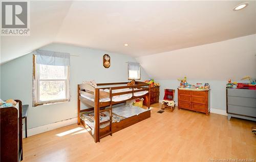
[[[70,1],[31,1],[30,36],[1,36],[1,63],[53,42],[71,4]]]

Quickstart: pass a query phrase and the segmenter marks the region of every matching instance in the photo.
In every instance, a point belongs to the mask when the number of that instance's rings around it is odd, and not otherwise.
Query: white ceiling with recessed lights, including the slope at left
[[[30,36],[1,36],[1,63],[52,42],[141,57],[256,33],[256,2],[31,1]],[[124,47],[128,43],[128,47]]]

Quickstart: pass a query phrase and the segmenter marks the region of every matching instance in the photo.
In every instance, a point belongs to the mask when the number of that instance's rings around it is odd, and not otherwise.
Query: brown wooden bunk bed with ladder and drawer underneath
[[[84,83],[78,84],[77,124],[82,124],[93,136],[95,143],[121,129],[151,117],[150,102],[148,109],[121,105],[126,101],[148,96],[150,84],[135,82],[98,83],[97,87]],[[124,85],[125,84],[125,85]],[[92,108],[81,109],[81,103]]]

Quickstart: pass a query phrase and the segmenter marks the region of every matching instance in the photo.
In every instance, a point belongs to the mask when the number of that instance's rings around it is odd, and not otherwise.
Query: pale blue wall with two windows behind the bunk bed
[[[32,53],[1,65],[1,97],[19,99],[29,104],[28,128],[34,128],[77,116],[77,84],[84,80],[98,83],[127,81],[126,61],[136,61],[127,55],[113,54],[65,44],[50,44],[40,48],[44,50],[67,52],[71,55],[70,92],[71,101],[32,107]],[[111,57],[110,68],[102,65],[102,56]],[[141,80],[148,76],[141,70]]]

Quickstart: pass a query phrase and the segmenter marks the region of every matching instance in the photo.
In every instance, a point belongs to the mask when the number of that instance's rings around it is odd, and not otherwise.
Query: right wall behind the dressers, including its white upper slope
[[[226,109],[225,87],[228,79],[241,82],[244,76],[256,78],[256,35],[136,58],[147,74],[165,88],[177,89],[178,78],[191,84],[211,86],[211,108]],[[175,96],[177,101],[177,93]]]

